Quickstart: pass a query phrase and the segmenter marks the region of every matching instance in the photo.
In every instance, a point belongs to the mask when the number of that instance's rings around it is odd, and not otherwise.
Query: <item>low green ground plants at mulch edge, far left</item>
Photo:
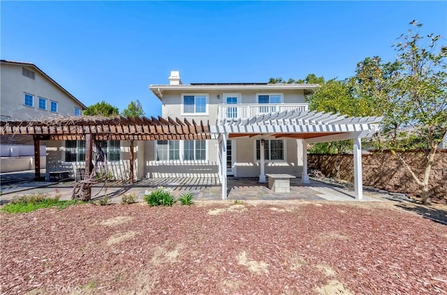
[[[57,206],[58,209],[61,210],[78,203],[76,200],[61,201],[59,200],[60,197],[61,195],[50,197],[50,195],[42,193],[22,196],[17,195],[13,197],[8,204],[3,206],[1,211],[6,211],[8,213],[26,213],[54,206]]]

